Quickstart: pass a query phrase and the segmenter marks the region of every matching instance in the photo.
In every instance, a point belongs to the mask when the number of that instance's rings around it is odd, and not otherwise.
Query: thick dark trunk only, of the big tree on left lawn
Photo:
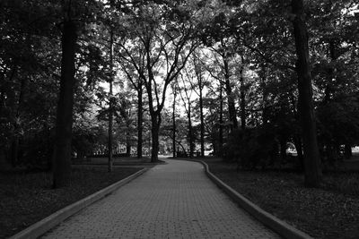
[[[74,54],[76,48],[76,25],[65,21],[62,30],[62,58],[60,94],[57,103],[56,143],[54,149],[53,187],[69,184],[71,175],[71,137],[74,106]]]

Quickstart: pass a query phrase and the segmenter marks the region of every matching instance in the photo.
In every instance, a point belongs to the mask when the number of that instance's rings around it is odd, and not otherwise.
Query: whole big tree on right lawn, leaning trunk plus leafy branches
[[[261,7],[264,5],[267,7],[266,10]],[[286,18],[283,13],[289,7],[277,1],[240,6],[237,8],[238,19],[228,26],[238,43],[250,49],[254,55],[262,59],[262,62],[265,61],[266,64],[271,64],[284,72],[295,70],[298,74],[299,112],[302,116],[302,142],[304,143],[304,158],[306,158],[304,160],[306,161],[306,184],[318,186],[320,184],[320,155],[312,103],[307,27],[302,1],[292,1],[290,16],[293,19],[295,40],[288,38],[290,28],[285,22]],[[271,11],[268,11],[268,8]],[[293,43],[295,43],[294,46]],[[296,67],[291,64],[295,60],[295,55],[292,53],[294,47],[297,53]],[[276,57],[276,55],[281,55],[281,57]]]

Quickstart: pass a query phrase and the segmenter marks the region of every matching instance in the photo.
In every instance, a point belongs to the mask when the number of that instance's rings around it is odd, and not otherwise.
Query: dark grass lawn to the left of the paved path
[[[50,173],[0,172],[0,238],[20,232],[58,209],[132,175],[140,167],[74,166],[71,185],[51,189]]]

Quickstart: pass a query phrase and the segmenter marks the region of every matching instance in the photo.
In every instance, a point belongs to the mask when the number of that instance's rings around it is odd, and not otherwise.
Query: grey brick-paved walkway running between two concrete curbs
[[[202,165],[166,161],[44,238],[279,238],[217,188]]]

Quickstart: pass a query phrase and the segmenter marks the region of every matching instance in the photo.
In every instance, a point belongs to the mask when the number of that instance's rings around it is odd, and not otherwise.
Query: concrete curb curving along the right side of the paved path
[[[287,224],[285,221],[276,218],[275,216],[268,213],[264,209],[260,209],[256,204],[246,199],[239,192],[233,190],[232,187],[230,187],[227,184],[224,184],[221,179],[219,179],[209,171],[209,167],[206,164],[206,162],[202,160],[188,160],[188,161],[198,162],[201,163],[203,166],[205,166],[206,175],[219,188],[221,188],[225,193],[227,193],[232,198],[233,201],[237,202],[241,206],[241,208],[248,211],[251,216],[257,218],[258,221],[263,223],[265,226],[271,228],[277,234],[289,239],[312,239],[310,235],[307,235],[306,233],[295,228],[294,226]]]

